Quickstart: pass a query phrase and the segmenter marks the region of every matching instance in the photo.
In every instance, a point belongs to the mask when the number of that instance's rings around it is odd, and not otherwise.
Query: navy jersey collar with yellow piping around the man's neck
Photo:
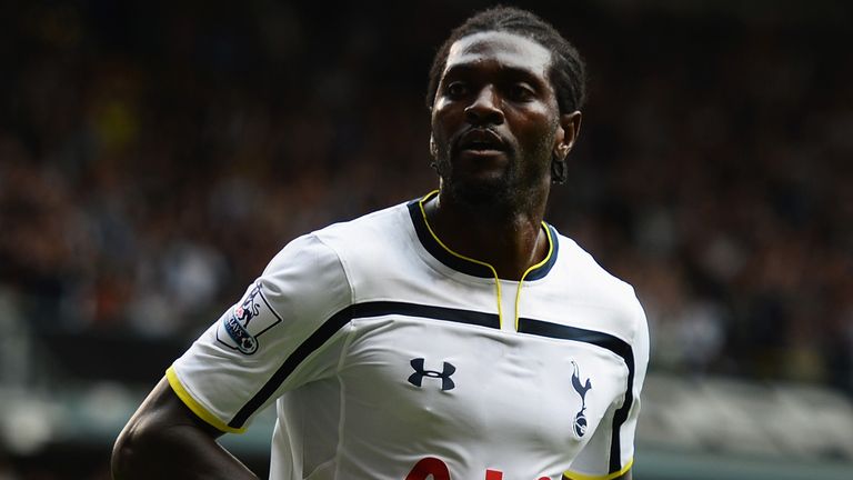
[[[494,278],[494,269],[489,263],[454,252],[448,248],[438,236],[435,236],[435,232],[432,231],[432,228],[430,228],[430,224],[426,221],[423,204],[438,193],[438,190],[432,191],[423,198],[414,199],[407,204],[409,214],[412,218],[412,223],[414,224],[414,231],[418,233],[418,239],[421,241],[423,248],[436,260],[453,270],[472,277]],[[545,222],[542,222],[542,228],[545,230],[548,237],[548,254],[544,260],[529,269],[522,280],[539,280],[544,278],[556,262],[558,250],[560,248],[560,242],[556,240],[556,230]]]

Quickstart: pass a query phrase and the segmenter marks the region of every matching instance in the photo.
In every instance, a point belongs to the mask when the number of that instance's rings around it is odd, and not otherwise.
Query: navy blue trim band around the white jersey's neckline
[[[418,233],[418,240],[421,241],[423,248],[426,249],[426,251],[430,252],[430,254],[433,256],[436,260],[444,263],[446,267],[452,268],[453,270],[470,274],[471,277],[489,279],[494,278],[494,274],[489,267],[459,258],[450,253],[435,240],[432,233],[430,233],[430,228],[426,226],[426,220],[423,218],[420,201],[421,199],[412,200],[407,204],[407,207],[409,208],[409,216],[412,218],[412,223],[414,224],[414,231]],[[560,241],[558,240],[556,229],[551,226],[548,226],[548,229],[551,232],[551,244],[553,247],[551,257],[549,257],[544,264],[531,270],[524,280],[539,280],[544,278],[548,272],[551,271],[551,268],[554,266],[554,263],[556,263],[556,254],[560,250]]]

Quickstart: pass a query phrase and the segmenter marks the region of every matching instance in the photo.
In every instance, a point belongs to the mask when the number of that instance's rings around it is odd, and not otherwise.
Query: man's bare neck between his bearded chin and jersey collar
[[[459,202],[442,191],[424,209],[430,227],[451,250],[491,264],[501,279],[521,280],[548,254],[545,200],[502,209]]]

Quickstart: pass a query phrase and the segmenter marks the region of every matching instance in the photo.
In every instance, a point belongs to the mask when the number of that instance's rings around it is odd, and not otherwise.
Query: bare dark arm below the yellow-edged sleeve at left
[[[116,440],[112,478],[257,480],[217,443],[220,436],[183,404],[163,378]]]

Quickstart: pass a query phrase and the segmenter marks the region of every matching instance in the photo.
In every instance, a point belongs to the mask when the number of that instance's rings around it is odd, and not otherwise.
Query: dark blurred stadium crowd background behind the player
[[[279,249],[434,188],[429,66],[488,4],[3,2],[0,480],[109,478]],[[588,62],[548,220],[646,309],[635,478],[849,479],[853,8],[515,4]],[[223,440],[261,474],[271,418]]]

